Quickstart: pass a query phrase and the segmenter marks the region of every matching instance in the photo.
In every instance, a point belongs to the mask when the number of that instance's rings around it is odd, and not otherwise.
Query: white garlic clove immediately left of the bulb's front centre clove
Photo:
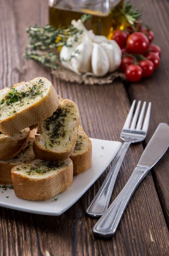
[[[72,52],[71,65],[80,73],[87,73],[91,71],[91,55],[93,44],[87,38],[79,44]]]

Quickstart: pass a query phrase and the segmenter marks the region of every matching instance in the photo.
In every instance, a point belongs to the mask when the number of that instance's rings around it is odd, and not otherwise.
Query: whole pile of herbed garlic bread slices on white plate
[[[0,145],[0,184],[12,183],[17,197],[28,200],[65,191],[92,163],[76,104],[42,77],[0,90]]]

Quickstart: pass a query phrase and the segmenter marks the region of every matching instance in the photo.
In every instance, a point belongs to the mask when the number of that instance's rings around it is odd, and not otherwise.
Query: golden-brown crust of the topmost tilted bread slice
[[[48,79],[38,77],[30,82],[34,82],[36,80],[39,81],[39,79],[48,81]],[[17,87],[21,83],[15,84],[14,87]],[[16,134],[24,128],[35,125],[52,116],[54,111],[56,111],[58,104],[59,99],[57,93],[51,84],[48,95],[45,95],[31,106],[28,106],[23,110],[14,113],[12,116],[8,116],[6,119],[3,119],[0,122],[0,131],[6,135]]]

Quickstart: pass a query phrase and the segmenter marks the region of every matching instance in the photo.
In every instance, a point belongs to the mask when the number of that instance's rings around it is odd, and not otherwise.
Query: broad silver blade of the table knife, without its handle
[[[169,125],[161,123],[147,144],[137,166],[144,166],[151,169],[160,160],[168,147]]]

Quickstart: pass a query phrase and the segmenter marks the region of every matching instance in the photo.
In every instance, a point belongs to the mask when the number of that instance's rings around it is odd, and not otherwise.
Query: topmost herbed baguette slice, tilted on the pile
[[[52,116],[58,104],[53,85],[43,77],[6,87],[0,90],[0,131],[16,134]]]

